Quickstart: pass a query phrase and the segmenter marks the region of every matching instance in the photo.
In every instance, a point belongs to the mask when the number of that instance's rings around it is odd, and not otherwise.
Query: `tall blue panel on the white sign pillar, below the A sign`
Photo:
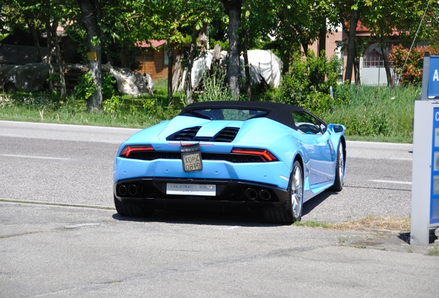
[[[433,108],[432,140],[430,224],[437,224],[439,223],[439,108]]]

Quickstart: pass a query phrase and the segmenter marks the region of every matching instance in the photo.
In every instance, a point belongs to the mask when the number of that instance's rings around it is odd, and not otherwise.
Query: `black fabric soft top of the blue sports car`
[[[268,101],[202,101],[198,103],[191,103],[186,106],[179,115],[184,115],[196,110],[208,109],[238,109],[238,110],[262,110],[267,112],[264,118],[273,119],[291,128],[295,128],[295,123],[292,117],[293,112],[311,112],[292,106],[286,103],[274,103]],[[315,115],[313,115],[315,117]],[[324,123],[322,121],[322,123]]]

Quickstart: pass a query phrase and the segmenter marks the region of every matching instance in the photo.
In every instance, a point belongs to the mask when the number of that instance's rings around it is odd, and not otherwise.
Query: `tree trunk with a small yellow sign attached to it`
[[[95,0],[77,0],[81,9],[81,21],[87,31],[88,69],[95,83],[96,91],[87,99],[87,112],[102,110],[102,72],[101,72],[101,32],[97,25],[99,19],[99,6]]]

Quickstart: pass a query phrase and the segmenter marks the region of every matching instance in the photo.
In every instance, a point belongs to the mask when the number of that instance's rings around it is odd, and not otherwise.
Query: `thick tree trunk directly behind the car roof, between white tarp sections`
[[[240,95],[240,25],[242,0],[222,0],[228,15],[227,83],[232,95]]]

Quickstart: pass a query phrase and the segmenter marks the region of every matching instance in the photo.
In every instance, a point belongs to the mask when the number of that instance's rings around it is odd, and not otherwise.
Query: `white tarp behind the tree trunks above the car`
[[[213,50],[202,54],[193,61],[191,72],[192,87],[199,86],[206,69],[211,69]],[[221,52],[221,62],[227,56],[226,51]],[[264,80],[270,86],[277,88],[282,74],[282,61],[271,50],[248,50],[248,64],[250,65],[251,84],[256,85]],[[244,66],[244,57],[240,57],[240,63]],[[244,67],[242,67],[242,77],[245,77]]]

